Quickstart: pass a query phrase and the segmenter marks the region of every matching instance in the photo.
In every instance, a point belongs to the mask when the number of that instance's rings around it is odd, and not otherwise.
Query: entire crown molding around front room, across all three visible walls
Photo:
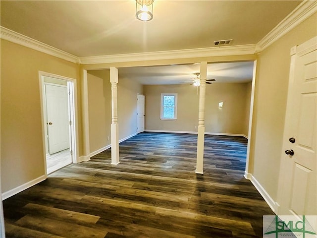
[[[79,58],[2,26],[0,26],[0,38],[46,53],[48,55],[52,55],[63,60],[81,64],[253,55],[255,53],[263,51],[265,48],[273,44],[275,41],[291,31],[293,28],[295,28],[297,25],[306,20],[315,12],[317,12],[317,1],[304,0],[266,36],[264,36],[264,38],[258,44],[240,46],[222,46],[176,51],[160,51]]]

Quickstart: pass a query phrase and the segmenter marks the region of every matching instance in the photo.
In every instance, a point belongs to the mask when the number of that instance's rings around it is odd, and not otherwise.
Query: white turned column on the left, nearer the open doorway
[[[118,69],[110,67],[111,83],[111,165],[119,164],[119,127],[118,127],[118,105],[117,105],[117,83]]]

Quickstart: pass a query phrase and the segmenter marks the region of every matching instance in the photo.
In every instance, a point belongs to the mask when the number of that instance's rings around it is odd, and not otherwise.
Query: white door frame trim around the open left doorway
[[[77,84],[76,79],[68,78],[64,76],[60,76],[53,73],[39,71],[39,83],[40,83],[40,102],[41,102],[41,119],[42,119],[42,142],[43,142],[43,159],[44,159],[44,170],[45,170],[45,177],[47,178],[47,164],[46,164],[46,151],[47,151],[47,128],[46,128],[46,105],[45,105],[45,82],[44,76],[56,78],[59,80],[64,80],[67,82],[67,88],[69,90],[69,113],[70,119],[72,121],[70,125],[70,147],[72,151],[72,163],[78,163],[78,125],[77,125]]]

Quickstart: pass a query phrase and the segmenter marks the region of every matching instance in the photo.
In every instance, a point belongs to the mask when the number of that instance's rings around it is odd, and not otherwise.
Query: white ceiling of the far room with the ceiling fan
[[[130,78],[144,85],[190,83],[200,72],[200,65],[164,65],[119,68],[121,78]],[[244,83],[252,81],[253,62],[209,63],[207,79],[213,83]]]

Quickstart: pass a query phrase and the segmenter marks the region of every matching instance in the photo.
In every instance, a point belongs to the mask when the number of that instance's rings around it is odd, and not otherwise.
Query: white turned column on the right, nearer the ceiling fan
[[[205,142],[205,97],[206,97],[207,62],[200,63],[200,90],[198,112],[198,137],[196,174],[204,174],[204,142]]]

